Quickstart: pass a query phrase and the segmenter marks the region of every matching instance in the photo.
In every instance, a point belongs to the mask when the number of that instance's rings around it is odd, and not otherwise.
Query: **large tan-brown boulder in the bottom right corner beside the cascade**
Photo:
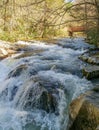
[[[99,130],[99,86],[70,104],[69,130]]]

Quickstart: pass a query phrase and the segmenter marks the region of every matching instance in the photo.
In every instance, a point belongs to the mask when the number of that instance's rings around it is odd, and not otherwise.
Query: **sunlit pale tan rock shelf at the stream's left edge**
[[[32,43],[34,42],[32,41]],[[27,42],[22,41],[16,43],[0,41],[0,60],[20,52],[21,54],[18,55],[16,59],[36,55],[40,52],[43,52],[43,49],[33,48],[32,46],[28,46]]]

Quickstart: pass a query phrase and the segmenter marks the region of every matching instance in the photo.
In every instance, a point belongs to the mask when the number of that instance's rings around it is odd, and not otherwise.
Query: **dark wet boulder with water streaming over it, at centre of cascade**
[[[55,86],[54,83],[53,85]],[[58,114],[59,92],[52,84],[44,83],[34,76],[23,88],[26,88],[26,91],[20,93],[20,100],[17,102],[17,104],[21,102],[23,109],[29,111],[39,109],[47,113]]]

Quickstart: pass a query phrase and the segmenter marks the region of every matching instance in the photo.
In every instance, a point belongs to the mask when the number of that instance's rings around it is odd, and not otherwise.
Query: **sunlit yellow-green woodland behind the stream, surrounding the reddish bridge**
[[[98,44],[98,0],[1,0],[0,39],[18,41],[68,36],[68,26],[84,26]]]

